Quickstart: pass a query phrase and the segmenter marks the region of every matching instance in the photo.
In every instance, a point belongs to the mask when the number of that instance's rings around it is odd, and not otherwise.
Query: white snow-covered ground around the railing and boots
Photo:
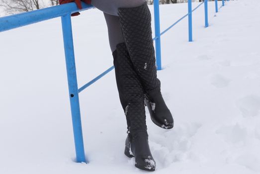
[[[193,6],[198,3],[193,3]],[[221,1],[219,1],[219,5]],[[162,29],[187,4],[161,6]],[[158,174],[260,174],[260,1],[209,2],[162,37],[162,92],[175,127],[147,115]],[[151,6],[153,13],[153,7]],[[81,87],[112,65],[97,9],[73,18]],[[59,18],[0,33],[0,174],[143,173],[123,154],[126,121],[114,72],[80,94],[88,164],[75,150]]]

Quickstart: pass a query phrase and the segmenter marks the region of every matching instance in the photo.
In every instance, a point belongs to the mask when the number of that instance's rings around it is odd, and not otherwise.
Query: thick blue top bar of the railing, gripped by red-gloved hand
[[[66,3],[63,5],[0,17],[0,32],[93,8],[92,5],[88,5],[84,2],[82,3],[82,6],[83,9],[80,10],[76,3]]]

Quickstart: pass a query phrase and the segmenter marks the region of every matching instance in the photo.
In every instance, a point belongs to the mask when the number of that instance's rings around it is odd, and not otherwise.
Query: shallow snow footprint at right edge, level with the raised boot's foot
[[[244,117],[254,117],[260,113],[260,97],[248,95],[240,98],[236,102],[237,107]]]

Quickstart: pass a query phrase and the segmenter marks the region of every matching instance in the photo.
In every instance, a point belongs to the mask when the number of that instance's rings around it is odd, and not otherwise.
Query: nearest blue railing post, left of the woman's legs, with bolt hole
[[[81,162],[86,163],[83,134],[82,134],[82,124],[81,124],[81,111],[80,111],[77,73],[76,73],[75,56],[74,56],[71,14],[69,13],[65,16],[62,16],[61,19],[62,19],[67,77],[68,77],[68,85],[69,85],[69,92],[70,92],[69,94],[70,94],[70,103],[71,103],[74,142],[76,148],[76,157],[78,163]]]

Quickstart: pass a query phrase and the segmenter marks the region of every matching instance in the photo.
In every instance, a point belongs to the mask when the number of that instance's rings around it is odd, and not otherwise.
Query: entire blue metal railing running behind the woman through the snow
[[[222,5],[220,6],[220,8],[225,5],[225,1],[226,0],[222,0]],[[173,28],[173,26],[175,26],[186,16],[188,16],[188,32],[189,32],[188,40],[192,41],[192,12],[204,3],[205,4],[204,6],[205,27],[208,27],[207,2],[208,0],[204,0],[194,9],[192,9],[191,0],[188,0],[188,13],[185,14],[180,19],[178,19],[176,22],[174,22],[170,27],[168,27],[162,33],[160,33],[159,0],[154,0],[155,38],[153,40],[155,40],[155,45],[156,45],[156,63],[157,63],[158,70],[162,69],[161,36],[165,34],[167,31],[169,31],[171,28]],[[218,8],[217,0],[215,0],[215,7],[216,7],[216,12],[218,12],[219,8]],[[52,19],[55,17],[61,17],[76,157],[77,157],[77,162],[85,162],[85,163],[86,163],[86,158],[85,158],[84,142],[83,142],[83,134],[82,134],[79,93],[114,69],[114,66],[110,67],[105,72],[103,72],[102,74],[100,74],[99,76],[91,80],[90,82],[88,82],[83,87],[78,88],[73,35],[72,35],[71,13],[87,10],[90,8],[93,8],[93,6],[83,3],[83,9],[79,10],[75,3],[67,3],[67,4],[39,9],[35,11],[0,17],[0,32],[29,25],[32,23]]]

